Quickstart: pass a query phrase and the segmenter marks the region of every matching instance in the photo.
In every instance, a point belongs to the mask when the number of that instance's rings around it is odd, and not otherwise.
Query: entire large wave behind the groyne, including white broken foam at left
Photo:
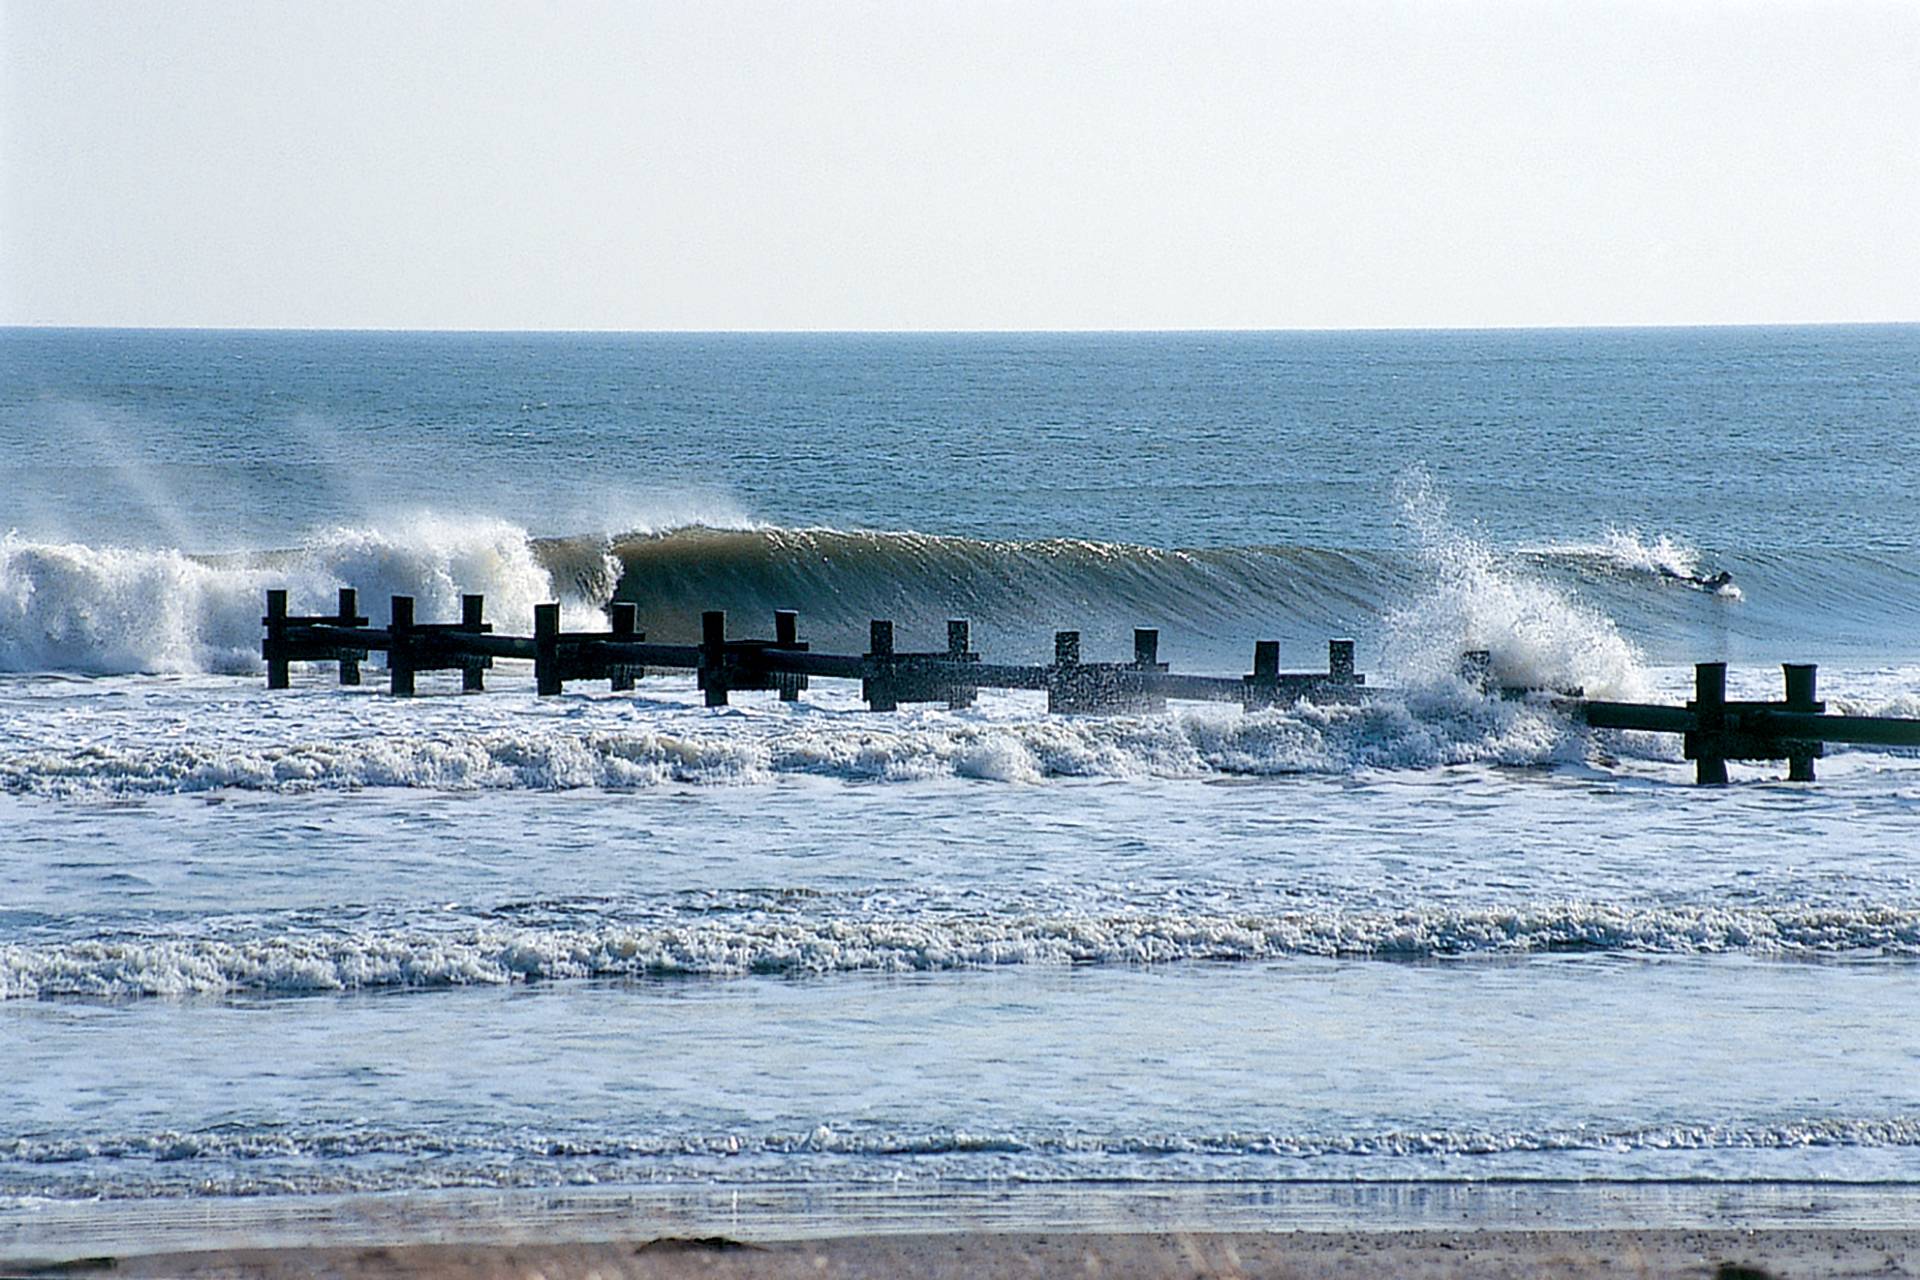
[[[1281,639],[1288,668],[1313,670],[1325,641],[1348,635],[1388,679],[1428,681],[1461,651],[1488,649],[1509,683],[1615,697],[1640,693],[1645,660],[1730,649],[1920,656],[1920,562],[1899,553],[1709,560],[1620,530],[1500,549],[1453,526],[1430,486],[1402,487],[1402,551],[755,526],[532,537],[501,520],[436,516],[219,557],[8,533],[0,672],[253,674],[269,587],[286,587],[296,612],[326,612],[344,585],[376,620],[390,595],[413,595],[419,616],[438,620],[459,614],[463,593],[482,593],[509,633],[528,633],[547,599],[578,628],[603,626],[609,599],[632,601],[662,641],[695,639],[708,608],[732,614],[739,635],[799,608],[816,647],[854,652],[872,618],[895,620],[904,649],[939,649],[947,618],[972,618],[975,647],[1008,662],[1044,660],[1054,629],[1081,629],[1089,660],[1125,656],[1133,628],[1152,626],[1179,670],[1248,670],[1256,639]],[[1720,568],[1734,583],[1711,585]]]

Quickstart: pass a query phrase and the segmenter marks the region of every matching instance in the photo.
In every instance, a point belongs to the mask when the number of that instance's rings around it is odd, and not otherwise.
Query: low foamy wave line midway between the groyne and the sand
[[[0,944],[0,998],[301,994],[557,979],[929,973],[1002,965],[1158,965],[1292,956],[1434,960],[1920,956],[1908,908],[1523,908],[1300,913],[699,917],[636,925],[413,927],[238,938]]]

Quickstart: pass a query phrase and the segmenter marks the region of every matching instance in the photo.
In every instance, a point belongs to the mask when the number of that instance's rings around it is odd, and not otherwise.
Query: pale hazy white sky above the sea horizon
[[[0,0],[0,324],[1857,320],[1910,0]]]

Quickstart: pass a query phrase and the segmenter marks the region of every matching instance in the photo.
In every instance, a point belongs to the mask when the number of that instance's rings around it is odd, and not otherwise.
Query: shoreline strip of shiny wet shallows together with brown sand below
[[[0,1276],[46,1267],[549,1280],[1622,1267],[1713,1276],[1722,1263],[1749,1268],[1724,1274],[1920,1274],[1914,1224],[1920,1182],[636,1184],[12,1199],[0,1201]]]

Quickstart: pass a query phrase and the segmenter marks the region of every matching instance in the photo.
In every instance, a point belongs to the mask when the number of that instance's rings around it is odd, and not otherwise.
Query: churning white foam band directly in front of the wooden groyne
[[[1116,718],[1037,716],[1004,704],[995,714],[874,716],[806,706],[714,716],[703,708],[632,708],[612,699],[553,708],[528,702],[495,695],[486,704],[413,706],[326,693],[286,702],[271,718],[261,718],[253,702],[236,704],[238,720],[227,729],[219,722],[156,725],[131,706],[117,712],[119,720],[96,722],[102,733],[86,737],[75,737],[71,722],[52,708],[31,737],[0,743],[0,791],[84,798],[217,789],[630,789],[791,775],[1008,783],[1346,775],[1578,762],[1592,747],[1586,731],[1548,706],[1457,687],[1352,706]]]

